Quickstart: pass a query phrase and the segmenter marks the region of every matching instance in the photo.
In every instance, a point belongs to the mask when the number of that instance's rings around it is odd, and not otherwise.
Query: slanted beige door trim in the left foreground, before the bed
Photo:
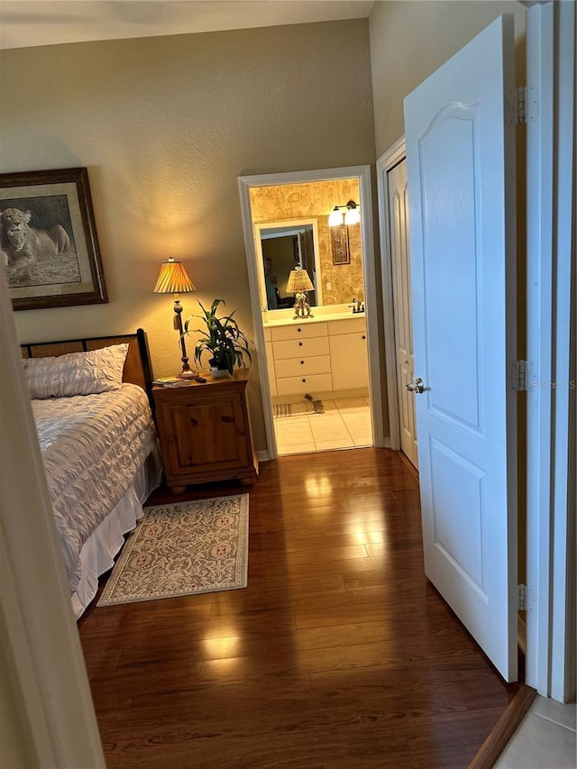
[[[35,764],[104,767],[5,270],[0,270],[0,627]]]

